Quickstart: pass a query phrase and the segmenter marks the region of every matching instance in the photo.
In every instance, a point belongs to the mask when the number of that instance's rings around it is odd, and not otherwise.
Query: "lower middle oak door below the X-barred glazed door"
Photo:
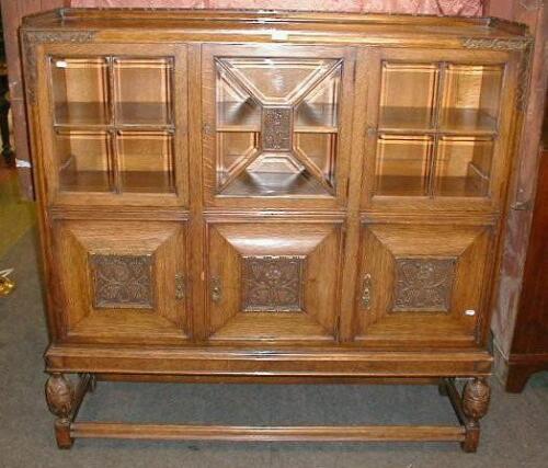
[[[208,225],[209,340],[335,340],[340,225]]]

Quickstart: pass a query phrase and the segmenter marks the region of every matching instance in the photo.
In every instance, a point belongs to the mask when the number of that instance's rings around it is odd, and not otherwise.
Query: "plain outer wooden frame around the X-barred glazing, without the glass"
[[[284,196],[229,196],[217,195],[217,144],[216,144],[216,57],[266,58],[332,58],[342,59],[342,90],[339,124],[339,144],[335,165],[335,196],[284,195]],[[336,209],[347,201],[347,174],[352,141],[352,109],[354,95],[355,50],[351,46],[323,45],[226,45],[207,44],[202,48],[203,80],[203,155],[204,203],[207,207],[222,208],[275,208],[275,209]]]

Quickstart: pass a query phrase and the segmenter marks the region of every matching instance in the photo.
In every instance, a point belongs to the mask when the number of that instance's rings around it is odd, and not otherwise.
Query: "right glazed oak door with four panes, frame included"
[[[510,54],[380,49],[370,57],[363,208],[498,209],[517,88]]]

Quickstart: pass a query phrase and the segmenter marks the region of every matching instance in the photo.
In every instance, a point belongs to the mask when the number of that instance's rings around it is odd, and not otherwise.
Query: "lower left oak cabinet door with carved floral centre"
[[[62,221],[55,242],[66,340],[186,340],[184,224]]]

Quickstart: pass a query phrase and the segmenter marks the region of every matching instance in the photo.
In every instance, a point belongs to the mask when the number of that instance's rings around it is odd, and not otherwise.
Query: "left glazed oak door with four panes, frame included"
[[[186,206],[186,47],[46,44],[43,172],[54,204]]]

